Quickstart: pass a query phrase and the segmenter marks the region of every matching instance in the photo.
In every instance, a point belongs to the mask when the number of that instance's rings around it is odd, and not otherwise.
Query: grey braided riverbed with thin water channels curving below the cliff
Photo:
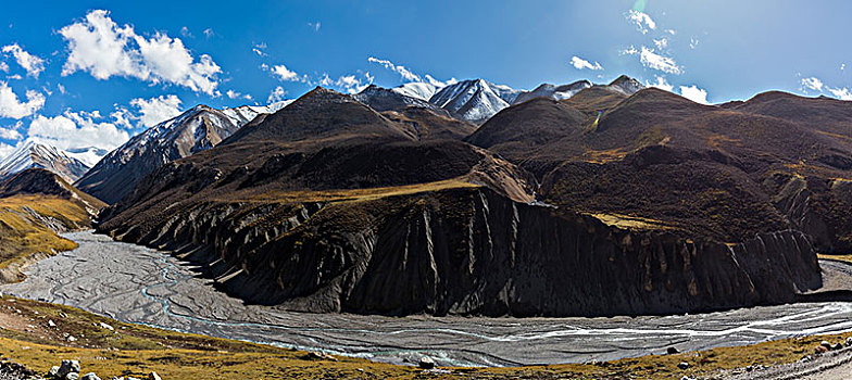
[[[607,360],[852,330],[849,302],[612,318],[292,313],[246,305],[156,250],[91,232],[66,237],[79,248],[29,266],[25,281],[0,290],[127,322],[398,364],[423,355],[461,366]]]

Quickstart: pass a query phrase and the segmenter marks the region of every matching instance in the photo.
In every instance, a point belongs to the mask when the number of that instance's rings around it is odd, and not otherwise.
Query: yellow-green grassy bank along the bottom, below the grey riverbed
[[[145,377],[150,371],[164,379],[713,378],[722,377],[726,369],[795,362],[811,354],[822,340],[834,343],[842,339],[817,335],[597,364],[424,372],[351,357],[312,358],[300,351],[122,324],[67,306],[0,299],[0,352],[4,357],[38,371],[47,371],[61,359],[79,359],[84,372],[95,371],[101,378]],[[690,368],[678,369],[681,362]]]

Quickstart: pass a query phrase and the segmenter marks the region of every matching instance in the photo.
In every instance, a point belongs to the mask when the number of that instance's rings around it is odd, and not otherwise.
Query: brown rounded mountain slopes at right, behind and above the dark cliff
[[[845,226],[852,218],[844,216],[841,200],[848,191],[843,183],[852,178],[847,164],[852,147],[835,132],[850,124],[835,115],[816,127],[794,117],[798,113],[779,111],[820,113],[829,111],[813,107],[844,104],[769,93],[718,107],[646,89],[577,125],[579,110],[572,102],[601,104],[609,97],[605,89],[593,91],[584,90],[550,112],[506,109],[469,141],[535,173],[542,183],[539,197],[555,205],[647,217],[722,241],[798,228],[820,250],[850,250]],[[785,105],[767,105],[780,100]],[[486,134],[502,142],[489,145],[493,141],[480,136]],[[794,180],[799,177],[805,179]]]

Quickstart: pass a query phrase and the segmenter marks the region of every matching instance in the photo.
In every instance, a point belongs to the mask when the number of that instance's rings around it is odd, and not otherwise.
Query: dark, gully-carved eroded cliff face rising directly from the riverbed
[[[179,207],[176,207],[179,208]],[[738,244],[629,231],[486,188],[208,203],[113,237],[173,250],[248,302],[308,312],[598,316],[792,301],[822,282],[798,231]]]

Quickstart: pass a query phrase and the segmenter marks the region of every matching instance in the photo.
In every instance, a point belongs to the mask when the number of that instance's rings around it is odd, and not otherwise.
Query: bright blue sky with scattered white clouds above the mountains
[[[852,100],[851,24],[849,1],[15,1],[0,14],[0,156],[27,137],[113,149],[198,103],[427,75]]]

